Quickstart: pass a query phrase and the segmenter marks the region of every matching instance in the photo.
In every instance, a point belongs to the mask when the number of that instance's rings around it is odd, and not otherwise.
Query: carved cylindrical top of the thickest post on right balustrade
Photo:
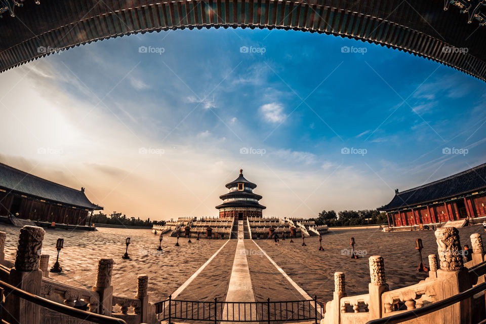
[[[459,231],[455,227],[440,227],[435,231],[440,269],[459,271],[464,267]]]

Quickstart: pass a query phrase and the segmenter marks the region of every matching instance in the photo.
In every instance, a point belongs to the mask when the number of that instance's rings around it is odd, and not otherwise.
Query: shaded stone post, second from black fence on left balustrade
[[[98,275],[93,291],[100,296],[99,313],[111,316],[113,301],[113,286],[111,286],[111,274],[113,272],[113,259],[100,259],[98,261]]]

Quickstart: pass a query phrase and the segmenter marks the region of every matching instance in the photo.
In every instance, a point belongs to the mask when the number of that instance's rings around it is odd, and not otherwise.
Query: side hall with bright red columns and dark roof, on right
[[[443,223],[486,216],[486,164],[399,192],[385,206],[389,226]]]

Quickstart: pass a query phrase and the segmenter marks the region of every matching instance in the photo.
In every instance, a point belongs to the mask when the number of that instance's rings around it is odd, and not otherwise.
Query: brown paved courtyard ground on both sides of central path
[[[5,247],[6,258],[14,260],[19,228],[0,225],[7,232]],[[471,246],[469,236],[483,233],[482,226],[459,228],[461,245]],[[130,260],[123,260],[125,238],[131,237],[129,246]],[[157,302],[168,298],[225,243],[226,239],[196,240],[187,242],[180,238],[180,247],[175,247],[176,238],[164,236],[164,253],[156,251],[159,240],[148,229],[100,228],[96,232],[66,231],[48,229],[43,243],[43,254],[51,256],[49,267],[56,258],[56,240],[64,238],[60,263],[63,272],[50,273],[50,277],[66,284],[91,289],[95,284],[99,258],[113,258],[112,285],[114,294],[134,296],[137,275],[149,276],[150,301]],[[355,249],[361,257],[350,258],[349,238],[354,237]],[[316,236],[306,237],[306,247],[302,239],[280,240],[275,246],[273,240],[246,239],[245,253],[248,260],[251,282],[256,301],[302,300],[304,297],[293,287],[289,280],[261,252],[262,250],[296,282],[309,296],[316,295],[319,300],[332,299],[334,272],[346,275],[346,291],[349,295],[367,293],[370,281],[368,257],[381,255],[385,259],[385,274],[390,289],[409,286],[424,279],[427,273],[416,271],[419,265],[415,239],[421,238],[424,245],[422,255],[428,265],[427,256],[437,253],[433,230],[384,233],[378,229],[330,230],[322,235],[324,251],[318,251]],[[185,287],[178,299],[209,301],[217,297],[224,300],[232,272],[237,240],[233,239],[219,251],[214,259]],[[258,245],[258,246],[257,246]]]

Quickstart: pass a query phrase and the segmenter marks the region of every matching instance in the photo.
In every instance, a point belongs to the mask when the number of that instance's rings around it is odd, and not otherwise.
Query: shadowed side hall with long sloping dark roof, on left
[[[0,216],[85,225],[88,213],[103,208],[76,190],[0,163]]]

